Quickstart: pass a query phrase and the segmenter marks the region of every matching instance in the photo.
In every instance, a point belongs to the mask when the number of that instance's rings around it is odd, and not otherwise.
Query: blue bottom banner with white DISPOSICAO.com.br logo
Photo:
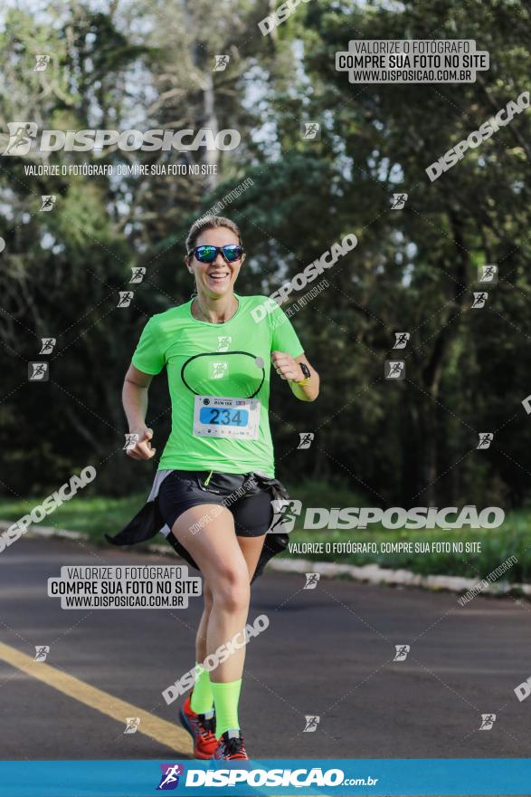
[[[529,794],[531,759],[2,761],[1,797]]]

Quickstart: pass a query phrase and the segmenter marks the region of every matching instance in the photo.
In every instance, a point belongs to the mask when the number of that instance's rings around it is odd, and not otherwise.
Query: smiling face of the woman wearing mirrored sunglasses
[[[240,245],[238,235],[233,233],[228,227],[217,227],[213,230],[204,230],[197,237],[195,246],[226,246],[228,244]],[[195,248],[194,246],[194,248]],[[234,263],[228,263],[221,252],[218,252],[212,263],[201,263],[192,254],[188,268],[191,274],[195,275],[197,292],[205,293],[211,298],[232,293],[234,283],[240,274],[245,255]]]

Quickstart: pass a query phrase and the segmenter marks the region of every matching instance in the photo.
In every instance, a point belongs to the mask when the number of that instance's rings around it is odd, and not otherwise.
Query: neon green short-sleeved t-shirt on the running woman
[[[159,470],[275,475],[270,354],[299,357],[304,350],[278,305],[269,302],[273,310],[265,312],[256,308],[266,296],[234,295],[238,309],[223,324],[195,319],[190,300],[152,316],[142,331],[132,363],[147,374],[166,366],[172,403]]]

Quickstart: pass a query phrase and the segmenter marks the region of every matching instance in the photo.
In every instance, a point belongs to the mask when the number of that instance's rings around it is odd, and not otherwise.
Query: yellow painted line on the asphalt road
[[[155,739],[158,744],[169,747],[176,754],[192,754],[192,740],[190,736],[174,723],[167,722],[165,719],[150,714],[143,708],[133,706],[119,697],[109,695],[102,689],[90,687],[79,678],[67,675],[61,670],[51,667],[44,662],[34,661],[31,656],[26,656],[16,648],[11,648],[0,642],[0,660],[5,661],[16,669],[22,670],[28,676],[42,681],[43,684],[57,689],[63,695],[73,697],[85,706],[95,708],[101,714],[117,720],[121,725],[126,725],[127,716],[139,716],[140,724],[137,728],[138,734],[144,734],[151,739]],[[175,716],[176,719],[176,716]]]

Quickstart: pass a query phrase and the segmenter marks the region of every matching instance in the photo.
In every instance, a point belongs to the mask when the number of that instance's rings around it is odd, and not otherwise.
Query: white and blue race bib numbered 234
[[[195,396],[194,437],[234,437],[255,440],[260,425],[260,401]]]

